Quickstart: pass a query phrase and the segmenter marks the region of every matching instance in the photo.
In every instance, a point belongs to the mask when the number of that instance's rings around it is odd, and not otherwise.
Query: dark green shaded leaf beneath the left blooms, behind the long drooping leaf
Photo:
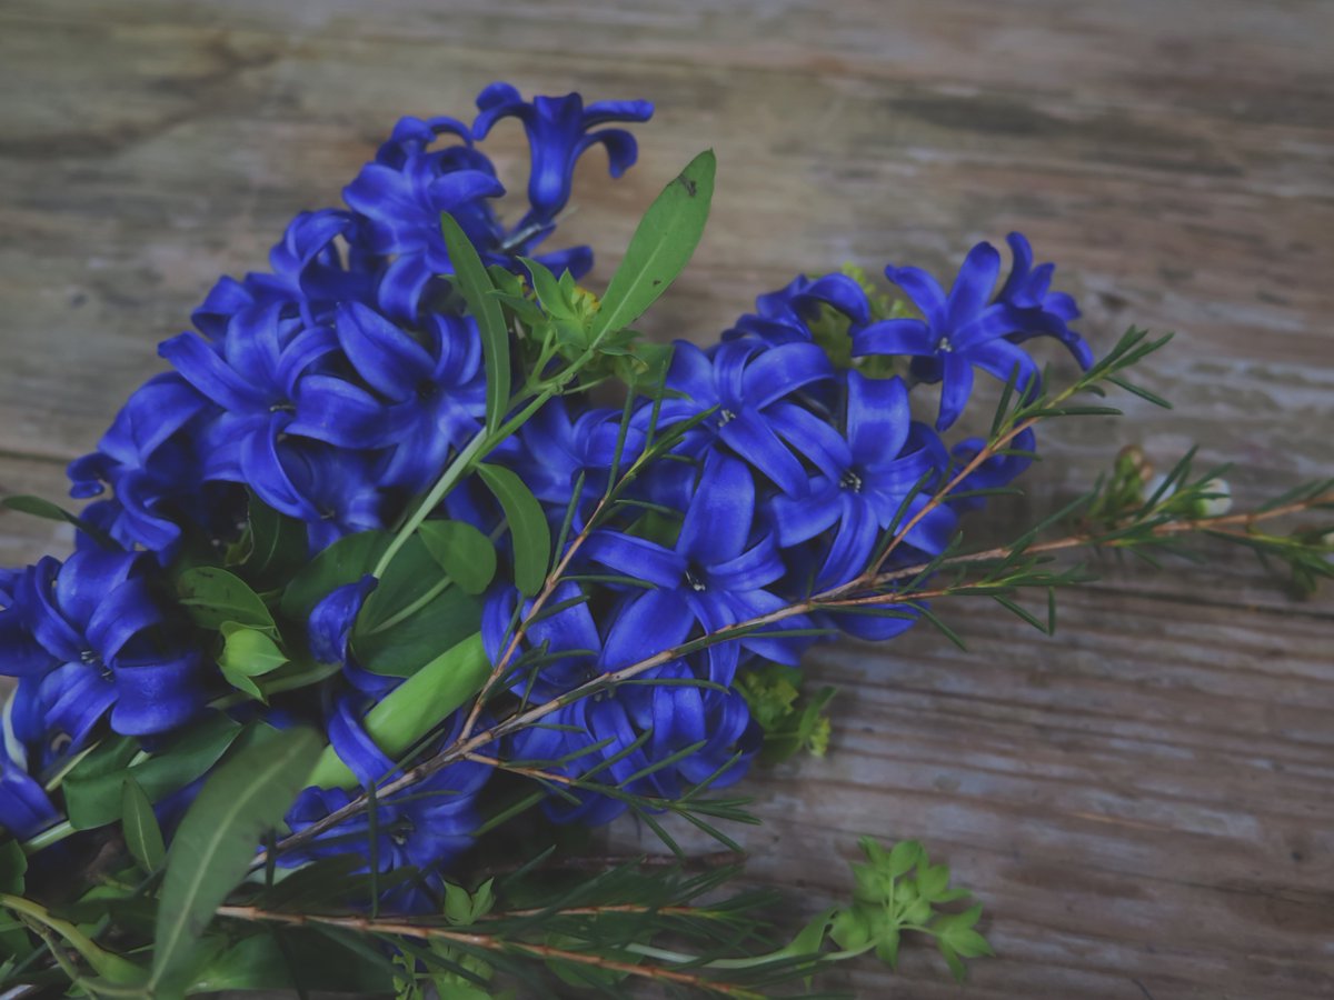
[[[240,732],[240,725],[225,715],[216,713],[196,721],[141,764],[128,767],[129,759],[137,752],[132,740],[116,744],[116,756],[108,753],[84,757],[65,775],[63,783],[71,825],[75,829],[92,829],[119,820],[123,808],[121,788],[127,775],[143,788],[149,801],[159,801],[184,788],[216,764]]]

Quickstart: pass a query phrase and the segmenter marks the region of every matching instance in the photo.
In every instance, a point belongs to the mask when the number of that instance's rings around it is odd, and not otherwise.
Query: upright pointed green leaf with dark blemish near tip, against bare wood
[[[708,220],[716,160],[706,149],[654,200],[602,297],[592,335],[628,327],[690,261]]]

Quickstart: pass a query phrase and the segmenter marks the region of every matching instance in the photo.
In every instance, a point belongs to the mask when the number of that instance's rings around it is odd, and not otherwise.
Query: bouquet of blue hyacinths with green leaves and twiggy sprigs
[[[76,547],[0,571],[4,996],[762,996],[892,964],[904,932],[962,975],[988,952],[979,908],[920,844],[866,840],[851,901],[776,943],[770,897],[674,837],[739,852],[744,800],[719,792],[824,751],[832,692],[803,689],[803,653],[952,636],[932,607],[964,596],[1050,631],[1089,577],[1061,551],[1209,533],[1330,575],[1323,528],[1259,529],[1330,507],[1330,483],[1237,515],[1222,471],[1154,477],[1133,451],[1010,544],[964,544],[1039,424],[1115,412],[1079,393],[1162,403],[1127,371],[1167,339],[1095,359],[1019,233],[1007,272],[980,243],[948,288],[803,275],[707,347],[646,340],[711,153],[600,295],[590,248],[546,241],[579,157],[602,145],[620,176],[619,125],[651,113],[494,84],[471,124],[403,119],[346,208],[297,215],[268,272],[224,277],[161,344],[171,369],[69,467],[80,512],[5,500]],[[478,148],[507,117],[531,149],[511,223]],[[680,860],[567,864],[572,828],[627,812]]]

